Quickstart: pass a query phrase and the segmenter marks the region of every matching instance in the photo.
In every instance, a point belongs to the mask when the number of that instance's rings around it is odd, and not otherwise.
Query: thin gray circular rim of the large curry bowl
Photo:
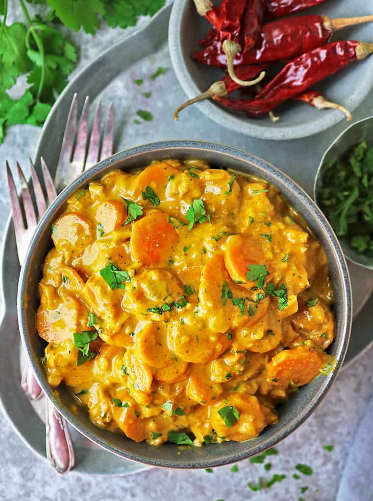
[[[34,258],[34,249],[39,240],[39,237],[42,235],[46,226],[48,226],[52,218],[55,217],[55,213],[59,210],[62,205],[66,202],[68,197],[77,189],[86,186],[88,182],[97,178],[99,175],[102,175],[104,171],[109,171],[110,167],[115,168],[116,162],[120,162],[122,160],[128,158],[141,157],[145,153],[152,153],[155,151],[169,151],[173,148],[183,148],[186,152],[193,152],[194,158],[196,155],[196,150],[199,151],[209,151],[215,154],[225,154],[225,156],[230,156],[233,159],[240,159],[249,163],[252,163],[259,168],[263,172],[263,178],[272,177],[275,181],[280,183],[285,189],[292,189],[292,191],[296,194],[299,200],[303,203],[305,210],[314,210],[317,214],[317,224],[320,226],[320,229],[327,236],[327,240],[329,242],[330,248],[333,251],[333,256],[338,265],[338,275],[340,276],[341,281],[341,297],[343,304],[343,312],[341,314],[340,319],[340,333],[341,338],[337,344],[338,351],[335,355],[337,360],[336,369],[322,378],[322,384],[317,390],[314,392],[312,397],[307,402],[307,405],[302,408],[288,424],[284,427],[279,427],[278,430],[273,434],[273,436],[266,438],[260,444],[253,447],[251,451],[246,452],[238,452],[234,454],[227,454],[218,459],[206,460],[206,461],[185,461],[183,463],[175,462],[172,459],[163,460],[163,459],[147,459],[143,456],[139,456],[135,453],[128,452],[126,450],[120,449],[115,445],[108,443],[108,441],[101,439],[95,433],[92,433],[88,428],[79,423],[79,421],[75,418],[74,414],[70,412],[66,407],[61,406],[59,402],[56,401],[56,398],[53,395],[53,389],[49,386],[45,379],[45,373],[40,364],[37,364],[36,360],[32,356],[31,345],[29,343],[29,336],[27,332],[27,321],[26,321],[26,308],[24,307],[23,298],[25,297],[25,292],[27,289],[28,282],[28,274],[29,270],[33,265]],[[168,157],[169,158],[169,157]],[[117,167],[120,168],[120,167]],[[266,175],[267,174],[267,175]],[[273,179],[269,182],[273,183]],[[339,245],[338,239],[335,236],[329,222],[326,217],[323,215],[321,210],[317,207],[312,198],[290,177],[281,172],[279,169],[274,167],[272,164],[266,162],[265,160],[252,155],[251,153],[246,153],[245,151],[238,150],[232,148],[230,146],[221,145],[218,143],[210,143],[204,141],[195,141],[195,140],[175,140],[175,141],[161,141],[155,143],[148,143],[141,146],[136,146],[134,148],[130,148],[127,150],[120,151],[115,153],[111,157],[104,159],[98,162],[96,165],[91,167],[88,171],[83,172],[75,181],[69,184],[52,202],[52,204],[48,207],[44,216],[40,220],[36,231],[31,240],[25,263],[21,269],[18,293],[17,293],[17,314],[18,314],[18,323],[20,329],[20,335],[23,347],[26,351],[29,362],[32,365],[34,370],[34,374],[44,391],[46,397],[51,401],[52,405],[61,413],[61,415],[83,436],[94,442],[96,445],[103,447],[105,450],[112,452],[116,455],[119,455],[123,458],[138,461],[142,463],[146,463],[152,466],[162,466],[162,467],[170,467],[170,468],[207,468],[207,467],[215,467],[223,464],[229,464],[233,462],[237,462],[241,459],[256,455],[264,450],[267,450],[270,447],[273,447],[280,440],[288,436],[292,431],[298,428],[315,410],[315,408],[319,405],[322,398],[326,395],[332,382],[335,380],[337,373],[342,366],[344,356],[346,354],[349,335],[351,331],[351,322],[352,322],[352,296],[351,296],[351,284],[348,274],[347,265],[343,256],[342,249]],[[248,440],[247,442],[250,442]],[[231,443],[231,442],[228,442]]]

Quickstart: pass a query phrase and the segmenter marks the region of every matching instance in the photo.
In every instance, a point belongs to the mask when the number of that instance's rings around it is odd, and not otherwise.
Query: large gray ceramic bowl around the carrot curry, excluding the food
[[[226,442],[204,447],[179,450],[175,444],[153,447],[146,442],[136,443],[123,434],[114,434],[97,428],[85,410],[72,413],[72,397],[65,388],[53,391],[46,380],[40,357],[43,356],[43,342],[35,329],[35,311],[38,307],[38,282],[45,256],[52,246],[50,238],[53,221],[61,213],[67,198],[77,189],[111,169],[130,170],[147,165],[151,160],[166,158],[202,158],[214,167],[229,167],[259,176],[277,186],[290,203],[308,221],[315,235],[320,239],[329,259],[330,276],[335,289],[335,316],[337,333],[330,353],[338,362],[336,371],[321,376],[300,389],[279,409],[279,422],[269,426],[253,440]],[[27,299],[27,303],[24,301]],[[27,304],[27,307],[24,306]],[[198,141],[168,141],[139,146],[116,153],[84,172],[70,184],[48,208],[32,239],[25,264],[21,271],[18,289],[18,315],[20,332],[25,350],[31,360],[38,381],[46,395],[57,405],[61,414],[80,433],[106,450],[127,459],[156,466],[179,468],[207,468],[233,461],[272,447],[297,428],[320,403],[341,367],[346,352],[351,327],[351,290],[346,263],[331,227],[312,199],[289,177],[260,158],[228,146]]]

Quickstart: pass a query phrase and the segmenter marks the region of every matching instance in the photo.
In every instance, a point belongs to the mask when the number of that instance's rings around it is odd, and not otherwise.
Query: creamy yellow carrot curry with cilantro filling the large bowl
[[[113,170],[52,226],[53,387],[138,442],[247,440],[332,364],[326,255],[278,190],[201,160]]]

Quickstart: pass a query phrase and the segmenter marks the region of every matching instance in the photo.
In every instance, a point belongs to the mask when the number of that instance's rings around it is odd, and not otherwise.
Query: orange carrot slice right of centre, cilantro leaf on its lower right
[[[230,278],[244,282],[242,287],[251,288],[255,283],[248,281],[246,272],[249,265],[264,265],[264,257],[259,243],[248,235],[230,235],[226,241],[224,254],[225,267]],[[266,276],[269,281],[270,275]]]

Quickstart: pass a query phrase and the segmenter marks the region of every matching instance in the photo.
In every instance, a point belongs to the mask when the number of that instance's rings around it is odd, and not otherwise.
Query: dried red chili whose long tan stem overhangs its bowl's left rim
[[[238,78],[242,78],[243,80],[248,80],[256,77],[259,73],[264,71],[267,68],[267,64],[257,65],[257,66],[240,66],[237,68],[236,74]],[[189,99],[184,104],[179,106],[174,113],[173,117],[175,120],[179,119],[179,113],[181,110],[190,106],[191,104],[197,103],[198,101],[202,101],[203,99],[209,99],[214,96],[224,97],[228,94],[231,94],[233,91],[239,89],[241,86],[237,84],[234,80],[230,78],[229,75],[225,75],[221,80],[214,82],[205,92],[202,92],[198,96]]]

